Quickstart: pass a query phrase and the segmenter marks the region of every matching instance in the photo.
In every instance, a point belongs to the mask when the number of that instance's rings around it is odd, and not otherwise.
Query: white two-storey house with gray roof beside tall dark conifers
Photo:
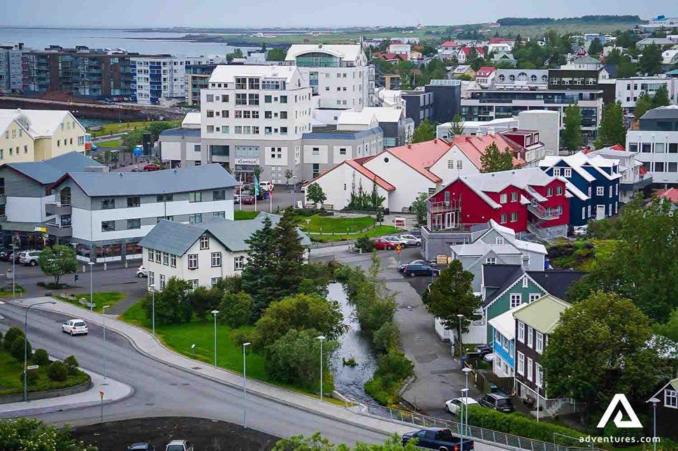
[[[278,215],[259,213],[253,220],[233,221],[212,218],[209,222],[185,224],[160,221],[139,242],[143,248],[143,266],[148,269],[148,287],[162,290],[170,278],[179,278],[199,286],[212,287],[221,278],[238,275],[247,264],[247,243],[261,229],[264,218],[273,226]],[[301,244],[310,238],[297,229]]]

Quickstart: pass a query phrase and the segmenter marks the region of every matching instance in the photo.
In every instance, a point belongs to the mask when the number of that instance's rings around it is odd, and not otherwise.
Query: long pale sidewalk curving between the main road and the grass
[[[20,299],[15,302],[15,305],[26,306],[31,303],[36,303],[43,300],[52,300],[52,298]],[[103,324],[101,320],[102,315],[99,315],[99,313],[92,313],[89,310],[71,306],[71,304],[62,301],[57,301],[57,303],[54,305],[45,304],[43,306],[36,307],[36,309],[49,310],[63,313],[65,315],[80,317],[86,322],[92,324]],[[167,348],[164,348],[164,346],[161,345],[160,342],[152,336],[152,334],[145,331],[144,329],[141,329],[140,327],[127,324],[126,322],[122,322],[120,320],[115,320],[110,315],[107,315],[106,329],[115,331],[127,338],[138,352],[150,359],[160,361],[183,371],[201,375],[204,378],[209,378],[225,385],[230,385],[231,387],[237,387],[240,389],[240,387],[243,386],[242,375],[231,373],[230,371],[226,371],[221,368],[214,368],[208,364],[203,364],[201,361],[192,360],[187,357],[183,357],[172,350],[168,350]],[[274,385],[259,382],[258,380],[248,379],[247,391],[258,394],[259,396],[262,396],[266,399],[286,404],[287,406],[301,408],[310,413],[315,413],[331,420],[358,426],[363,429],[377,432],[378,434],[393,434],[394,432],[397,434],[403,434],[412,429],[412,427],[406,427],[401,424],[394,424],[385,420],[359,415],[346,408],[337,406],[336,404],[320,401],[319,399],[314,399],[310,396],[291,392],[290,390],[275,387]],[[89,392],[92,392],[92,390]],[[99,396],[98,391],[96,391],[96,396]],[[85,401],[82,400],[82,402]],[[2,416],[1,413],[0,416]]]

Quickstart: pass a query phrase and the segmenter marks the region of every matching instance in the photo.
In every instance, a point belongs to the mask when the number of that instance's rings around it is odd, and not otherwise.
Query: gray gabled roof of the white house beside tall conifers
[[[241,252],[247,250],[245,240],[250,238],[254,231],[261,229],[264,217],[267,216],[271,217],[273,226],[280,221],[279,215],[263,212],[253,220],[245,221],[231,221],[215,217],[210,222],[187,224],[161,220],[141,239],[139,245],[172,255],[184,255],[202,234],[208,232],[231,252]],[[311,244],[310,238],[303,231],[297,229],[297,233],[301,237],[302,245]]]

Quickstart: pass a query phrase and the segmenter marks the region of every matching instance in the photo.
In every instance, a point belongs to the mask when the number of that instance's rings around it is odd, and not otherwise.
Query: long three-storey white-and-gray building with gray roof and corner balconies
[[[52,186],[51,213],[78,259],[141,259],[138,243],[160,220],[232,220],[236,185],[219,164],[138,173],[69,172]]]

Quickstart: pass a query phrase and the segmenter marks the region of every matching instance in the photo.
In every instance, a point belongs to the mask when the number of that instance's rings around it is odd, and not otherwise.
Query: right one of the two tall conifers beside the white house
[[[274,280],[275,299],[294,294],[305,271],[303,268],[304,247],[298,234],[292,209],[284,211],[280,221],[273,230],[273,246],[275,255]],[[271,256],[272,257],[272,256]]]

